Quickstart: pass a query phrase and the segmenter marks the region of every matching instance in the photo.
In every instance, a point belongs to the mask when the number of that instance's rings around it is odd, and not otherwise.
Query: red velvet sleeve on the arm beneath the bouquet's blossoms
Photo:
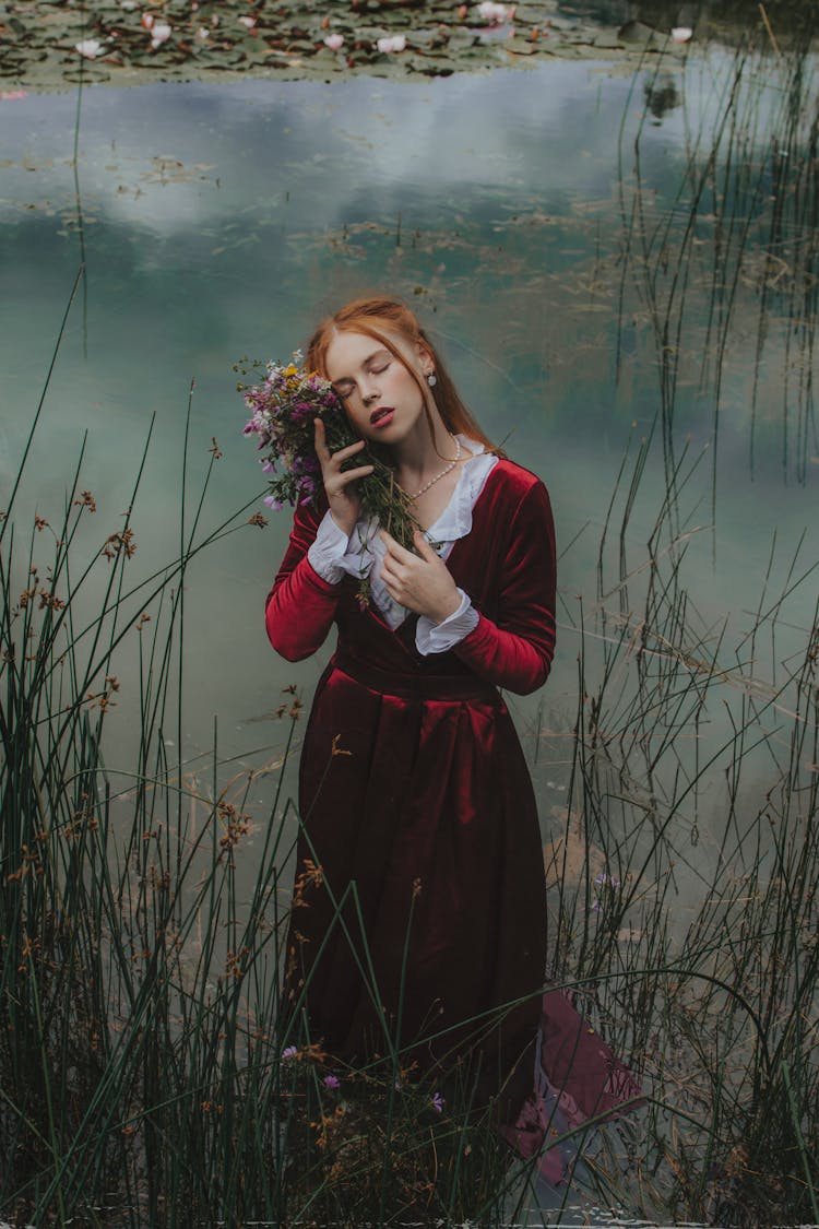
[[[340,584],[323,580],[307,558],[322,514],[296,509],[290,546],[268,594],[265,626],[270,644],[287,661],[301,661],[322,646],[333,626]]]

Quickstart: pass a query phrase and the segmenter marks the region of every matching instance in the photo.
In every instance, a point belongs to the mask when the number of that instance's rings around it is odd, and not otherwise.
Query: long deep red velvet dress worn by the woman
[[[527,1086],[514,1080],[519,1106],[532,1089],[524,1056],[534,1056],[538,1024],[562,1047],[566,1068],[587,1032],[554,993],[544,1002],[551,1000],[556,1021],[541,1020],[540,831],[499,692],[537,689],[551,664],[555,540],[546,489],[510,461],[494,466],[472,531],[447,558],[478,626],[454,649],[429,656],[415,648],[415,617],[392,630],[372,605],[361,608],[354,578],[330,584],[318,576],[306,556],[320,519],[322,511],[297,509],[266,606],[270,640],[291,661],[314,653],[338,627],[301,760],[286,994],[297,998],[307,982],[312,1039],[355,1062],[388,1048],[375,993],[392,1036],[422,1066],[469,1050],[480,1056],[487,1091],[516,1067],[523,1070]],[[334,914],[345,892],[341,925]],[[497,1009],[510,1003],[517,1005],[501,1018]],[[602,1107],[603,1079],[589,1112]]]

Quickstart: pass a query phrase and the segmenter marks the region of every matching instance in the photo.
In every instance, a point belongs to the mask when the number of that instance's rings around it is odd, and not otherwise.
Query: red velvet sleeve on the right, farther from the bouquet
[[[543,686],[555,649],[555,530],[546,488],[523,495],[500,560],[496,619],[478,627],[453,653],[479,677],[526,696]]]

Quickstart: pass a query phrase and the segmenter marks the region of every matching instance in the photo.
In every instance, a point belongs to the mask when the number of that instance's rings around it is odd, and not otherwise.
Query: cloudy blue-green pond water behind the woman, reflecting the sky
[[[204,521],[216,525],[263,489],[241,436],[232,363],[286,358],[325,308],[389,288],[442,342],[490,435],[551,492],[562,551],[559,658],[543,697],[513,701],[533,761],[539,730],[572,729],[578,597],[586,608],[597,602],[600,535],[627,455],[603,589],[619,579],[624,492],[641,440],[650,444],[624,527],[626,567],[643,565],[669,466],[688,449],[685,468],[700,460],[678,500],[690,533],[680,575],[701,627],[728,619],[731,656],[753,622],[772,543],[771,601],[797,546],[793,576],[817,559],[819,478],[807,218],[801,231],[785,216],[780,263],[766,264],[771,202],[788,190],[790,166],[791,195],[804,192],[805,149],[770,61],[747,70],[745,109],[734,109],[756,178],[743,187],[724,168],[706,176],[691,213],[733,73],[729,54],[712,53],[636,74],[555,61],[421,85],[152,85],[4,102],[4,487],[81,251],[87,270],[18,520],[34,510],[58,520],[87,433],[80,487],[99,508],[88,543],[113,532],[156,415],[129,568],[141,575],[169,560],[190,380],[189,500],[215,439],[223,455]],[[782,143],[783,172],[771,152]],[[680,252],[688,263],[675,264]],[[672,347],[657,345],[663,320],[672,336],[679,329],[670,372],[659,360]],[[281,689],[296,683],[308,698],[327,660],[329,648],[292,666],[266,645],[263,599],[287,532],[289,515],[273,515],[188,573],[185,758],[206,753],[214,714],[222,755],[273,753],[284,740],[270,717]],[[775,660],[758,664],[765,682],[804,644],[815,591],[808,576],[781,607]],[[126,644],[111,763],[128,745],[134,671]],[[537,758],[549,823],[565,766]]]

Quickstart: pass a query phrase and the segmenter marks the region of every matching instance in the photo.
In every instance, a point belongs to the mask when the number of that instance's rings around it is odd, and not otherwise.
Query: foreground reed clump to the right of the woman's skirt
[[[643,446],[611,504],[623,528],[642,465]],[[677,492],[690,469],[678,466]],[[621,553],[610,580],[602,552],[598,602],[575,619],[565,832],[548,860],[553,973],[648,1093],[627,1172],[614,1156],[598,1175],[624,1206],[659,1223],[813,1222],[819,612],[776,685],[760,665],[817,564],[797,551],[774,594],[769,569],[734,639],[690,602],[679,526],[667,503],[647,559],[630,568]],[[556,761],[561,741],[549,737]]]

